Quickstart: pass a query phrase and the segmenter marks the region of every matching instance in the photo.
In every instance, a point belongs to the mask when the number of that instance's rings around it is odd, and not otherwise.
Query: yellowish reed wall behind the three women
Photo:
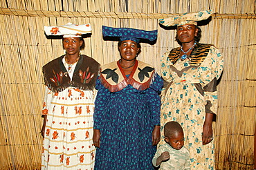
[[[142,45],[138,59],[160,70],[165,50],[178,46],[174,30],[158,19],[212,9],[202,43],[223,53],[215,129],[217,169],[253,169],[256,113],[255,0],[1,0],[0,169],[40,169],[42,66],[63,54],[61,40],[46,39],[43,26],[91,23],[83,54],[100,64],[119,59],[117,42],[102,39],[101,26],[158,29],[156,44]]]

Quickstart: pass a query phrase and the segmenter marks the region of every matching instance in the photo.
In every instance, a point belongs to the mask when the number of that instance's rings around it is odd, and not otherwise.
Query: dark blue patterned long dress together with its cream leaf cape
[[[153,169],[154,125],[160,124],[163,85],[154,68],[137,62],[125,75],[119,62],[102,66],[96,82],[94,129],[100,129],[95,169]]]

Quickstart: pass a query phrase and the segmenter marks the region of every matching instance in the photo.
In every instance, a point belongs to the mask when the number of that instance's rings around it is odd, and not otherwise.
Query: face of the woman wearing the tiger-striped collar
[[[194,25],[183,25],[177,27],[177,37],[181,43],[194,42],[194,37],[197,35],[198,29]]]

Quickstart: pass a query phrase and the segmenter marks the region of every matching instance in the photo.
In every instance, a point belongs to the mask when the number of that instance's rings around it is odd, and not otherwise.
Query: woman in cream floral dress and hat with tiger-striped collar
[[[217,114],[217,79],[223,57],[213,45],[199,44],[201,29],[196,21],[208,17],[210,12],[204,11],[160,20],[165,26],[177,26],[176,40],[181,45],[161,59],[161,75],[167,82],[161,126],[172,120],[181,124],[191,169],[214,169],[212,119]]]

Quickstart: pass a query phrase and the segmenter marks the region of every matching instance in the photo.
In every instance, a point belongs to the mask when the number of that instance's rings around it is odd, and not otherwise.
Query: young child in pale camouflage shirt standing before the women
[[[183,147],[184,134],[178,122],[167,122],[164,126],[165,142],[158,147],[152,160],[159,169],[190,169],[190,153]]]

